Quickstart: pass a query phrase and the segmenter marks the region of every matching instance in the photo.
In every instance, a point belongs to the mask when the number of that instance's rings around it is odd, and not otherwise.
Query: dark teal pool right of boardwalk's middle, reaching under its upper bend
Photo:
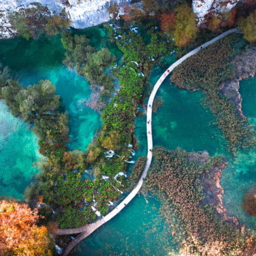
[[[175,58],[168,58],[168,66]],[[154,68],[150,76],[153,86],[166,65]],[[187,151],[207,150],[210,154],[220,154],[224,150],[225,140],[215,125],[214,116],[204,109],[201,100],[203,92],[192,92],[170,85],[170,76],[165,79],[157,92],[164,104],[152,115],[152,135],[154,146],[164,146],[170,150],[177,147]]]

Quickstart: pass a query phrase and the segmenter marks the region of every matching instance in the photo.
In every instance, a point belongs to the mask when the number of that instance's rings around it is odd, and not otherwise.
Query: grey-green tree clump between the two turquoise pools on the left
[[[21,115],[24,121],[34,122],[32,130],[38,137],[46,136],[48,130],[65,136],[68,133],[68,117],[58,113],[60,96],[55,94],[55,85],[49,80],[40,80],[40,84],[26,88],[8,80],[8,86],[2,88],[2,95],[12,115]]]

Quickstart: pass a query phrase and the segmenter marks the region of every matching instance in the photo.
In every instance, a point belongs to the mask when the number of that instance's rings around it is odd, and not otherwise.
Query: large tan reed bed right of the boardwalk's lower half
[[[221,220],[204,201],[203,176],[222,162],[221,156],[203,156],[162,147],[153,150],[154,162],[146,178],[149,190],[162,199],[170,233],[184,255],[243,255],[247,235]]]

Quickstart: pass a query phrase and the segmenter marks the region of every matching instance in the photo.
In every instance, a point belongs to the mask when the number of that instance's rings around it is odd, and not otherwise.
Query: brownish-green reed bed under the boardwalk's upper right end
[[[202,89],[207,94],[207,105],[216,113],[216,123],[234,154],[255,145],[255,132],[238,117],[234,104],[221,95],[218,84],[235,76],[231,61],[244,46],[241,35],[229,35],[185,60],[171,77],[180,88]]]

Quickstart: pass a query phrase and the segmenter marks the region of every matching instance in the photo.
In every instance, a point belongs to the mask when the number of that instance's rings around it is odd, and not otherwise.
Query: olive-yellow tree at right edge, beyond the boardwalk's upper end
[[[243,32],[243,38],[252,43],[256,41],[256,10],[247,18],[240,18],[238,28]]]

